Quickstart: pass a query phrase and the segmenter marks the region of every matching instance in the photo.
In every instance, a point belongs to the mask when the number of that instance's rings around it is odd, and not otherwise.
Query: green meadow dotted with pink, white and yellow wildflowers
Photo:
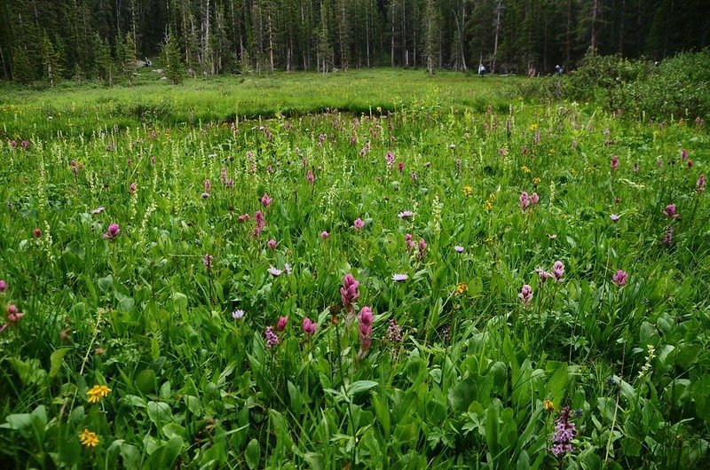
[[[4,90],[0,467],[707,466],[703,117],[489,78]]]

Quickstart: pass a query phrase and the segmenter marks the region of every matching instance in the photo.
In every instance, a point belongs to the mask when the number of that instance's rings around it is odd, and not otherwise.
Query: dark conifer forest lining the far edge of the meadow
[[[548,74],[574,67],[590,47],[650,59],[702,49],[706,2],[0,0],[0,79],[130,83],[134,58],[166,57],[169,31],[173,61],[179,55],[193,76],[376,66],[433,73],[479,63],[493,73]]]

